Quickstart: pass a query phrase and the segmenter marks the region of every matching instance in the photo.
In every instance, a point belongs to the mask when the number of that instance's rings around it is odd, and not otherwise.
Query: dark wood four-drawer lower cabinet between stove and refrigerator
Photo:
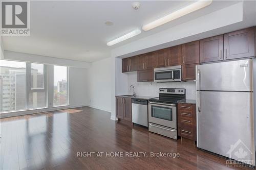
[[[197,119],[195,104],[178,103],[178,135],[196,141]]]

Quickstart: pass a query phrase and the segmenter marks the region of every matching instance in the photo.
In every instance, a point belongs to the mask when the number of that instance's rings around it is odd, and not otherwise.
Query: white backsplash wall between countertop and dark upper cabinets
[[[137,71],[128,73],[128,86],[129,94],[133,93],[130,86],[135,88],[136,95],[158,96],[159,88],[185,88],[186,99],[196,100],[196,82],[169,82],[169,83],[156,83],[156,82],[137,82]]]

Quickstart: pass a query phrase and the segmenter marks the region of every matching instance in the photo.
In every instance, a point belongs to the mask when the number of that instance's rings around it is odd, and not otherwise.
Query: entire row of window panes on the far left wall
[[[48,67],[0,60],[0,112],[47,108],[52,99],[53,106],[69,105],[68,67],[54,65],[53,82],[48,82]],[[48,86],[54,91],[48,91]]]

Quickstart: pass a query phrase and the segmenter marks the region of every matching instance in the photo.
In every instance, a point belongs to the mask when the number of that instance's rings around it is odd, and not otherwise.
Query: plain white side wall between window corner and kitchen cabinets
[[[106,58],[88,69],[88,106],[111,112],[111,68],[111,58]]]

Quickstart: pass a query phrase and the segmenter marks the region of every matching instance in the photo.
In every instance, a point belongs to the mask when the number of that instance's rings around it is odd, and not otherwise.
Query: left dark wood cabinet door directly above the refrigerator
[[[223,35],[200,40],[200,63],[223,60]]]

